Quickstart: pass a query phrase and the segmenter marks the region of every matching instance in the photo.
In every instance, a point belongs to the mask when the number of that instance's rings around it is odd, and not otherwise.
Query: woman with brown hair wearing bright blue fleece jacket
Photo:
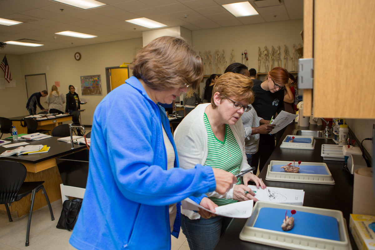
[[[130,68],[133,76],[94,113],[86,192],[69,241],[77,249],[171,249],[180,201],[189,197],[211,209],[201,194],[224,194],[237,181],[208,166],[179,168],[168,117],[157,103],[172,103],[201,82],[201,57],[186,40],[159,37]]]

